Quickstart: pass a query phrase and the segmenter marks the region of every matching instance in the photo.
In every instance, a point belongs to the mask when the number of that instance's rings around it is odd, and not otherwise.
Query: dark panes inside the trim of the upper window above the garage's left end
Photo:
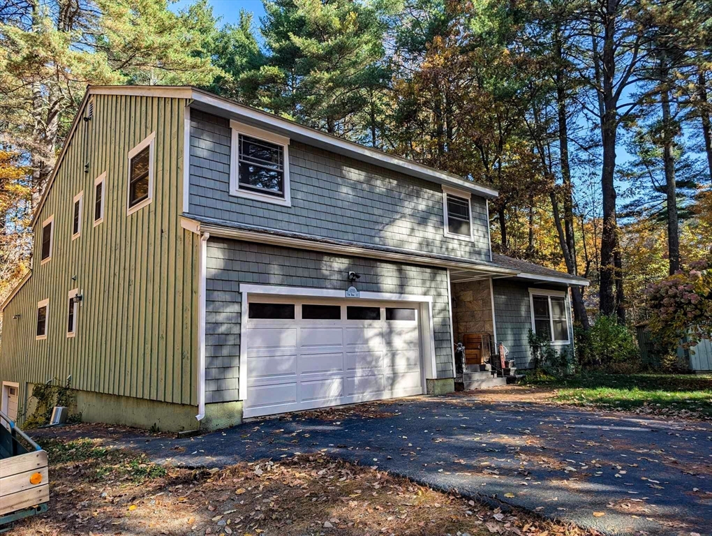
[[[239,188],[284,195],[284,152],[281,145],[239,135]]]

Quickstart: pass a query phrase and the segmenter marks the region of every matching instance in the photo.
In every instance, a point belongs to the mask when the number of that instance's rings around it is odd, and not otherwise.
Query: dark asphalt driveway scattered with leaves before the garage
[[[608,534],[712,534],[712,426],[703,422],[459,394],[119,443],[177,466],[323,451]]]

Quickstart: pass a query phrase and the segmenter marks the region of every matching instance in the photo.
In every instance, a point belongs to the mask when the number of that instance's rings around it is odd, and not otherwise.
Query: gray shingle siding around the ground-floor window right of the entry
[[[529,288],[532,283],[518,280],[492,280],[494,290],[494,312],[497,330],[497,342],[503,342],[509,350],[509,359],[515,359],[517,368],[530,368],[531,354],[529,352],[528,336],[532,327]],[[542,285],[536,288],[546,290]],[[550,287],[553,290],[563,290],[561,287]],[[567,308],[569,321],[569,340],[573,340],[571,309]],[[570,348],[567,345],[557,348]]]

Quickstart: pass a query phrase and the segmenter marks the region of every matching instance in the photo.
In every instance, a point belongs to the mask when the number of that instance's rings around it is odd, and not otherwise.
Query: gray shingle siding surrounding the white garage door
[[[240,283],[345,290],[349,270],[359,290],[433,297],[437,377],[453,375],[446,270],[214,238],[207,257],[207,403],[239,399]]]

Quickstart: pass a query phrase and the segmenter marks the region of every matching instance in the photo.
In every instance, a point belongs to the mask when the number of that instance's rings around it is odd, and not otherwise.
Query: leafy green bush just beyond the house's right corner
[[[639,368],[640,354],[633,334],[614,317],[600,315],[588,331],[576,328],[575,342],[581,367],[610,372]]]

